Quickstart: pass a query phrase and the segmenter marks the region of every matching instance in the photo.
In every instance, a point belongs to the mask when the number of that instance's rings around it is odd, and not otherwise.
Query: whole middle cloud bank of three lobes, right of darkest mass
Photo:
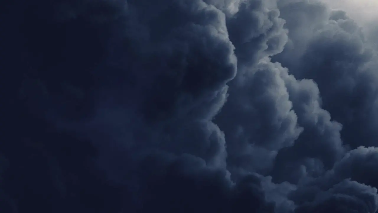
[[[278,153],[273,179],[296,182],[332,168],[344,147],[341,124],[322,109],[316,83],[298,81],[281,64],[266,58],[281,52],[287,41],[285,21],[274,6],[242,3],[226,22],[238,75],[229,83],[228,102],[215,122],[225,132],[230,168],[268,174]]]

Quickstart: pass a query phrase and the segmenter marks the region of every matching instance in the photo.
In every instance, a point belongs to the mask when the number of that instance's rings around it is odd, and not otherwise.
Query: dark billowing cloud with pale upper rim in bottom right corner
[[[299,184],[290,194],[296,211],[376,212],[376,148],[348,152],[321,177]]]

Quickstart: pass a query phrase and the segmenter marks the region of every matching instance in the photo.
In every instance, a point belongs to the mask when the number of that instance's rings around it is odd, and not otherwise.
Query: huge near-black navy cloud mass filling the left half
[[[211,122],[237,66],[222,11],[200,0],[28,6],[19,26],[30,36],[20,51],[31,67],[20,65],[20,98],[31,116],[59,129],[37,123],[34,135],[17,139],[33,146],[19,143],[20,155],[37,156],[11,159],[23,159],[6,187],[20,212],[274,211],[260,177],[229,179],[224,135]],[[63,130],[80,140],[60,136]],[[98,150],[85,153],[90,146]],[[32,168],[40,179],[25,174]]]

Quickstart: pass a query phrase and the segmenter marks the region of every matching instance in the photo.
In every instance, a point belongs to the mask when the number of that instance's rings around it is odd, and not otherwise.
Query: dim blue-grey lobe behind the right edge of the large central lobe
[[[287,71],[282,74],[298,116],[298,124],[304,127],[304,131],[293,147],[278,153],[273,173],[276,175],[273,177],[295,182],[301,176],[321,174],[323,167],[332,168],[345,153],[345,148],[340,138],[342,125],[332,121],[330,113],[321,108],[319,90],[314,81],[296,80]],[[292,172],[282,172],[287,169]]]

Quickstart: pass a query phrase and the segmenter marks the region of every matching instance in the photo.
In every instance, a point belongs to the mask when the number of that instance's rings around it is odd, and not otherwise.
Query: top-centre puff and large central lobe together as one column
[[[277,150],[291,146],[301,132],[277,70],[270,62],[256,66],[285,45],[287,31],[278,16],[273,1],[245,1],[226,19],[238,74],[215,123],[225,131],[230,169],[266,172]]]

